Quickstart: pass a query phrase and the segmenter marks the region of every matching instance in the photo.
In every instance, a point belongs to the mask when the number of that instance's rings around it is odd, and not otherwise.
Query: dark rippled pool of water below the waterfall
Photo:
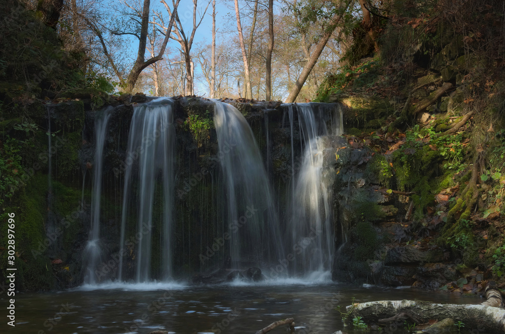
[[[255,333],[273,321],[293,317],[296,326],[304,327],[298,328],[300,333],[332,334],[341,330],[354,334],[359,331],[344,327],[340,313],[335,310],[339,305],[349,305],[353,297],[356,302],[399,299],[455,304],[482,302],[476,296],[334,283],[111,285],[108,289],[88,287],[17,294],[16,327],[4,330],[9,326],[2,323],[0,332],[144,334],[163,329],[173,333]],[[281,326],[271,333],[287,331]]]

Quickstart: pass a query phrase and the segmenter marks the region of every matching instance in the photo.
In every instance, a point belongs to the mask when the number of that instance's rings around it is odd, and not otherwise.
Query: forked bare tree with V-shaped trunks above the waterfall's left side
[[[115,35],[133,35],[138,39],[137,57],[135,59],[135,62],[133,63],[133,67],[129,71],[126,79],[124,78],[123,74],[119,71],[119,68],[118,68],[115,60],[113,59],[111,53],[109,52],[109,49],[107,47],[107,43],[106,43],[105,38],[102,34],[102,31],[99,29],[99,24],[91,21],[91,19],[89,19],[89,18],[84,18],[84,20],[87,22],[87,24],[90,26],[90,28],[93,30],[93,32],[98,37],[99,42],[102,45],[103,52],[104,52],[104,54],[110,64],[110,66],[113,68],[114,73],[118,77],[119,81],[121,82],[123,87],[125,87],[124,90],[126,93],[129,93],[129,94],[132,93],[132,91],[135,87],[135,83],[137,82],[140,73],[146,67],[163,59],[163,54],[165,53],[168,39],[170,38],[170,31],[172,31],[172,26],[174,24],[174,20],[177,15],[177,7],[179,6],[179,2],[180,2],[180,0],[177,0],[177,2],[175,2],[175,0],[174,0],[174,4],[173,4],[174,9],[173,9],[172,15],[170,16],[170,23],[167,28],[167,33],[165,35],[165,39],[161,43],[160,49],[158,50],[158,54],[154,55],[154,57],[151,57],[151,58],[145,60],[147,35],[148,35],[148,29],[149,29],[150,0],[143,1],[142,10],[138,12],[138,16],[139,16],[140,20],[137,20],[137,19],[133,20],[137,24],[140,23],[140,33],[139,34],[137,34],[137,32],[129,32],[129,31],[122,31],[122,30],[112,31],[112,33]],[[125,5],[133,9],[132,6],[129,6],[126,3],[125,3]]]

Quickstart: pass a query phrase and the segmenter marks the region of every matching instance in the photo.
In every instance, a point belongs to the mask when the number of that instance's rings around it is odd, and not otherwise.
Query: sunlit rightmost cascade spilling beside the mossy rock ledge
[[[311,103],[288,106],[291,127],[292,173],[294,174],[293,108],[296,108],[302,159],[290,189],[291,219],[288,224],[290,249],[296,254],[292,273],[306,275],[328,272],[335,250],[331,207],[332,173],[323,169],[324,144],[320,136],[327,129],[321,117],[316,119]],[[340,110],[338,109],[338,112]],[[340,113],[339,113],[340,114]],[[342,133],[341,116],[333,122],[332,132]]]

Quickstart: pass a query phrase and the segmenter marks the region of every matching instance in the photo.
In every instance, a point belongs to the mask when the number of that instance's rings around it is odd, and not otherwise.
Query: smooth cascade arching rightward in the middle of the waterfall
[[[228,207],[231,265],[278,263],[284,259],[279,221],[252,130],[234,106],[222,102],[215,102],[214,124]]]

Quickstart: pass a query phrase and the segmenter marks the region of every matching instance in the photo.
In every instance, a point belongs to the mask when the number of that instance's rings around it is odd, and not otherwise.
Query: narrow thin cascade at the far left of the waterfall
[[[106,108],[95,113],[95,154],[93,163],[93,186],[91,199],[91,229],[86,248],[84,250],[87,264],[84,283],[96,284],[95,273],[97,265],[101,262],[102,249],[100,247],[100,199],[102,198],[102,172],[104,163],[104,147],[107,135],[107,125],[111,117],[111,109]]]

